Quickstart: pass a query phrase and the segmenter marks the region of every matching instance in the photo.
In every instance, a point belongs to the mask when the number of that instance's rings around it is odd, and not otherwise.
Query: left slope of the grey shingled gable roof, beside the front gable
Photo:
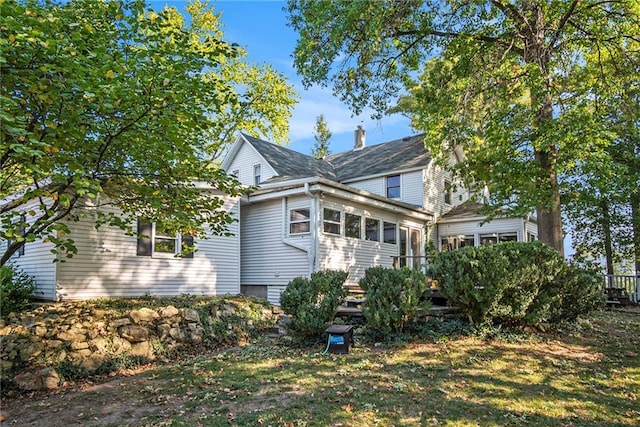
[[[278,177],[269,181],[311,176],[338,180],[335,169],[330,163],[244,133],[242,136],[278,173]]]

